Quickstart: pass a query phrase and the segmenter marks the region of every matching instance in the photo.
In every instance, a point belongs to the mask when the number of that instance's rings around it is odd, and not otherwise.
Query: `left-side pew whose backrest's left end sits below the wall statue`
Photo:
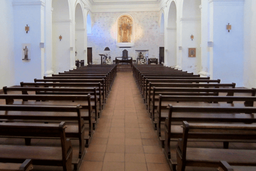
[[[102,92],[102,85],[100,83],[23,83],[20,82],[21,87],[96,87],[97,95],[99,95],[100,111],[105,104],[105,95]]]

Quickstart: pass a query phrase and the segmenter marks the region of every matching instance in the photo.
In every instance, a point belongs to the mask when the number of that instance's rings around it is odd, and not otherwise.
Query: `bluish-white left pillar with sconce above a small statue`
[[[43,52],[39,48],[39,43],[44,39],[44,3],[34,0],[35,3],[24,2],[13,3],[14,14],[14,67],[15,84],[19,82],[33,82],[33,79],[42,78],[44,64]],[[25,32],[25,26],[28,25],[29,31]],[[22,44],[30,44],[30,61],[22,60]]]

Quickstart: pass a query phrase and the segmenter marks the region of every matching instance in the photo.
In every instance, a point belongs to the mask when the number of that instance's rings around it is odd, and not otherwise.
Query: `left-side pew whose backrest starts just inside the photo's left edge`
[[[6,87],[3,88],[4,94],[8,94],[9,91],[21,92],[22,94],[28,94],[28,92],[34,92],[35,94],[51,94],[51,95],[87,95],[91,94],[91,106],[95,113],[95,123],[98,122],[98,117],[100,116],[100,103],[98,101],[99,96],[97,95],[97,88],[50,88],[50,87]],[[13,93],[12,93],[13,94]],[[20,93],[19,93],[20,94]],[[61,102],[60,104],[65,104],[66,102]],[[80,102],[78,102],[80,104]],[[76,105],[78,104],[76,103]],[[66,103],[69,105],[69,102]],[[72,103],[74,105],[74,103]],[[95,125],[93,125],[95,129]]]

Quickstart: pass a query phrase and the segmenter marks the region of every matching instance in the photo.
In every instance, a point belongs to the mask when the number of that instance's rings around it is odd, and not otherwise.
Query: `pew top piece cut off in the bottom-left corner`
[[[26,159],[21,164],[0,163],[0,171],[31,171],[31,170],[33,170],[31,159]]]

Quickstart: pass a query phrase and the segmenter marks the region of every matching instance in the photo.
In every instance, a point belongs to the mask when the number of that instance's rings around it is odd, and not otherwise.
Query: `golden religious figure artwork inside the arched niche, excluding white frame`
[[[133,20],[129,15],[122,15],[118,19],[118,43],[131,43]]]

